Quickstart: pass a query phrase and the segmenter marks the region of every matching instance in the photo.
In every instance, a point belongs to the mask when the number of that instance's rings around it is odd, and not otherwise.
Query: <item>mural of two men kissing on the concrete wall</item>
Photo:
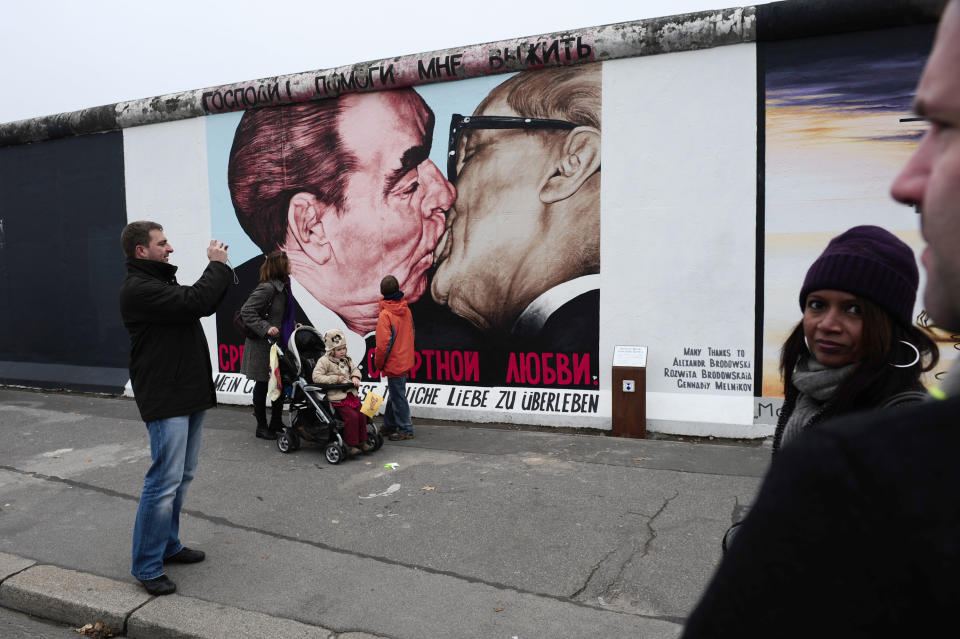
[[[601,93],[588,64],[207,118],[213,231],[246,260],[218,313],[221,372],[279,248],[298,319],[346,329],[365,380],[393,274],[412,384],[596,391]]]

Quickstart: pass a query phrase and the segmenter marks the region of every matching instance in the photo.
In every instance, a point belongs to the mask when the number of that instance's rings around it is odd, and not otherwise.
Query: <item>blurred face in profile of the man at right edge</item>
[[[936,324],[960,329],[960,2],[950,2],[924,69],[914,110],[930,128],[891,188],[920,207],[927,242],[924,304]]]

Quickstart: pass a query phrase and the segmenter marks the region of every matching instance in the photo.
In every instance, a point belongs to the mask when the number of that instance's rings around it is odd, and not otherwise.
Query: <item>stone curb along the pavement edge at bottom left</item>
[[[0,553],[0,607],[78,627],[102,621],[133,639],[380,639],[139,586]]]

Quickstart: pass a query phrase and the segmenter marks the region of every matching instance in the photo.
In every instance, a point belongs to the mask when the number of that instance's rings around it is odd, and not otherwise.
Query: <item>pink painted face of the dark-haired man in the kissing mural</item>
[[[342,100],[340,137],[356,168],[343,210],[323,220],[336,269],[324,278],[324,295],[337,300],[333,310],[349,314],[351,305],[380,299],[385,275],[397,278],[409,301],[423,295],[456,190],[428,159],[433,132],[416,93],[379,91]]]

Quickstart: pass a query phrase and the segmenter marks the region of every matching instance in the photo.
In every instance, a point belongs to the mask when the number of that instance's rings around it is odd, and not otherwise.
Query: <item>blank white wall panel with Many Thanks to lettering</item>
[[[751,383],[717,392],[665,370],[713,348],[752,371],[755,69],[754,44],[605,63],[605,78],[632,82],[604,96],[605,121],[629,134],[605,140],[602,291],[616,293],[602,296],[600,350],[649,347],[651,421],[752,422]]]

